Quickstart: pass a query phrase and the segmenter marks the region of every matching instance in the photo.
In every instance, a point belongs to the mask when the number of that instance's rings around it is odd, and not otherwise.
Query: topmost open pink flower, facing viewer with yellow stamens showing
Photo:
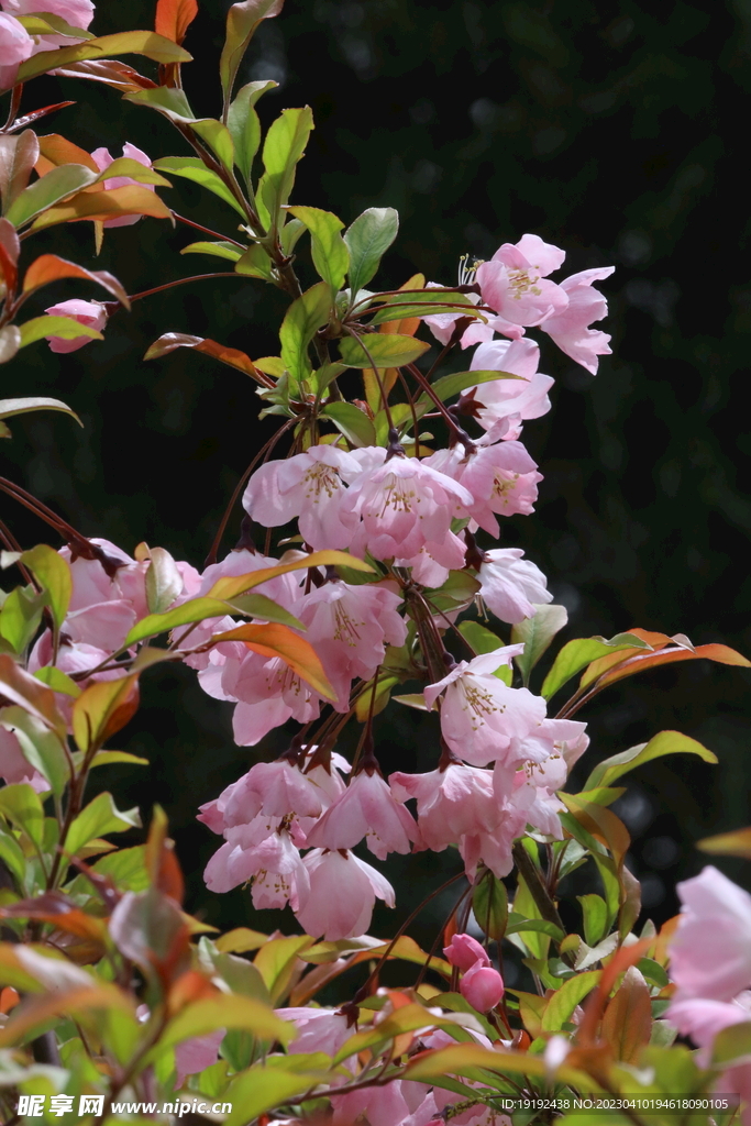
[[[522,325],[539,324],[566,309],[567,294],[547,279],[564,258],[563,250],[535,234],[525,234],[516,247],[504,242],[490,261],[477,267],[476,279],[484,304],[506,322],[506,327],[497,324],[497,331],[521,337]]]

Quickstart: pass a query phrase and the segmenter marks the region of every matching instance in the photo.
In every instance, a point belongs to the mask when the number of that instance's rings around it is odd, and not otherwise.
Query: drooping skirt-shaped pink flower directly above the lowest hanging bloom
[[[365,837],[370,851],[385,860],[388,852],[409,852],[418,839],[418,826],[395,801],[377,770],[356,775],[342,796],[307,833],[315,848],[355,848]]]

